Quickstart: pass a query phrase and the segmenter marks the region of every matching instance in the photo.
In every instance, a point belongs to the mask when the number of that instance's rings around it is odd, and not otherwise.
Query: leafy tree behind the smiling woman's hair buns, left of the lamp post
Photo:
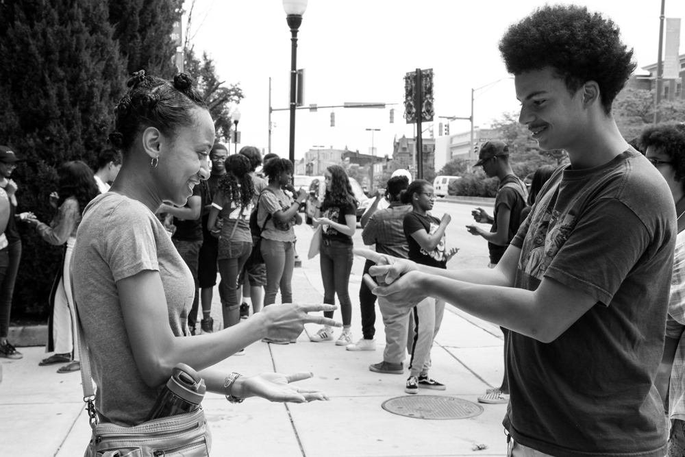
[[[225,82],[220,81],[219,75],[216,74],[214,60],[206,52],[198,59],[192,48],[186,50],[184,66],[184,71],[195,79],[198,90],[210,108],[216,129],[216,140],[230,143],[233,129],[231,108],[238,105],[244,97],[240,84],[225,86]]]

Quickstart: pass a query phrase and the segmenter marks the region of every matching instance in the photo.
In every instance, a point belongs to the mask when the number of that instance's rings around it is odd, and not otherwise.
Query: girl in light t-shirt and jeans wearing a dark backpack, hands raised
[[[269,185],[262,191],[257,213],[257,223],[262,230],[262,257],[266,265],[266,288],[264,309],[276,302],[276,294],[281,289],[281,303],[292,301],[292,269],[295,268],[295,230],[292,226],[301,224],[302,218],[297,210],[307,198],[300,190],[295,200],[290,198],[282,186],[292,180],[292,162],[288,159],[273,158],[264,164],[264,174]],[[266,343],[288,344],[290,339],[266,338]]]

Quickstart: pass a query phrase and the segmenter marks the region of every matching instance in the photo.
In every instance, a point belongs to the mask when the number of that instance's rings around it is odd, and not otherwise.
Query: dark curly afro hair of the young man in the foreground
[[[571,94],[588,81],[597,82],[607,115],[636,67],[632,48],[621,42],[619,27],[577,5],[536,9],[510,25],[499,51],[512,75],[551,67]]]

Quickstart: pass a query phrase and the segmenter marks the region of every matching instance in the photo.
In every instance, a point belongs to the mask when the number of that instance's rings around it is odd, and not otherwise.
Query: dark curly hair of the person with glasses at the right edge
[[[640,135],[640,149],[647,151],[653,146],[671,158],[675,180],[682,182],[685,190],[685,123],[661,123],[649,125]]]

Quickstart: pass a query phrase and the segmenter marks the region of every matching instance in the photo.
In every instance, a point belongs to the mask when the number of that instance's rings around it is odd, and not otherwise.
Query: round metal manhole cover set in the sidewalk
[[[391,398],[383,402],[383,409],[400,416],[416,419],[466,419],[483,412],[475,403],[455,397],[415,395]]]

